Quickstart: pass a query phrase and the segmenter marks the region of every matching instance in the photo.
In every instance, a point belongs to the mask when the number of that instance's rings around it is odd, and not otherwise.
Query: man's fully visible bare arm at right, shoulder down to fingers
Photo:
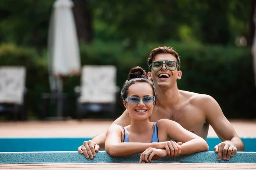
[[[244,151],[244,143],[224,116],[216,100],[211,96],[202,95],[201,106],[204,109],[207,121],[222,141],[214,147],[215,152],[218,153],[218,160],[220,161],[222,156],[224,160],[228,161],[230,156],[233,157],[237,150]]]

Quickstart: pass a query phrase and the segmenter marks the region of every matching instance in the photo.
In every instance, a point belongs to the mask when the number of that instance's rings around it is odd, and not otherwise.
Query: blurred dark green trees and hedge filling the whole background
[[[180,90],[211,95],[228,119],[256,118],[252,55],[255,0],[71,2],[81,69],[84,65],[113,65],[116,85],[121,88],[134,66],[148,71],[146,59],[153,48],[172,46],[181,59]],[[78,118],[82,71],[57,75],[60,91],[52,89],[49,81],[49,77],[56,77],[49,69],[54,3],[0,1],[0,66],[26,69],[23,110],[9,114],[13,110],[8,107],[15,105],[2,101],[1,120]],[[118,88],[116,92],[114,115],[101,111],[99,105],[90,105],[92,114],[79,118],[114,119],[121,115],[124,107]],[[60,105],[58,99],[63,99]],[[58,109],[62,109],[60,114]]]

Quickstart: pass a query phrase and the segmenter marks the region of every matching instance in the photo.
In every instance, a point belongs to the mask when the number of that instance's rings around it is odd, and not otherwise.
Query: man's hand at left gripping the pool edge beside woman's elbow
[[[96,156],[96,152],[99,152],[99,145],[89,140],[84,141],[84,144],[77,148],[80,154],[84,154],[86,159],[93,159]]]

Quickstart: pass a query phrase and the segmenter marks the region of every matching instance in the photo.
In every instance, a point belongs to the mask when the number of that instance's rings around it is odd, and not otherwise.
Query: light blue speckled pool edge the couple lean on
[[[186,163],[256,163],[256,152],[237,152],[229,161],[218,161],[218,154],[213,151],[168,156],[152,162],[186,162]],[[36,164],[36,163],[97,163],[97,162],[139,162],[140,154],[125,157],[113,157],[106,151],[99,151],[93,160],[86,159],[77,151],[59,152],[0,152],[0,164]]]

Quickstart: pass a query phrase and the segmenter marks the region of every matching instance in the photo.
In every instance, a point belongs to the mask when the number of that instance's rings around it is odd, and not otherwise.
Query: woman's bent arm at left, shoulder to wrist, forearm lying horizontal
[[[163,142],[161,142],[163,143]],[[161,144],[163,146],[163,144]],[[130,156],[142,153],[148,147],[161,147],[160,143],[122,142],[122,127],[111,125],[107,131],[105,149],[111,156]]]

